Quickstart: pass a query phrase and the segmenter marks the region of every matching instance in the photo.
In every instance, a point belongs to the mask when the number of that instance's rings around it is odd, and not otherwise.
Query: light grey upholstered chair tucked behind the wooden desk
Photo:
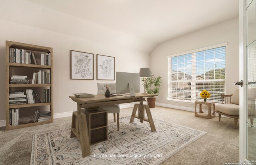
[[[108,85],[108,90],[110,91],[110,93],[116,93],[116,83],[97,83],[97,85],[98,85],[98,95],[105,94],[106,85]],[[119,131],[119,113],[120,113],[119,104],[102,105],[99,108],[102,108],[108,111],[108,113],[113,113],[114,122],[116,122],[116,114],[117,114],[117,130]]]

